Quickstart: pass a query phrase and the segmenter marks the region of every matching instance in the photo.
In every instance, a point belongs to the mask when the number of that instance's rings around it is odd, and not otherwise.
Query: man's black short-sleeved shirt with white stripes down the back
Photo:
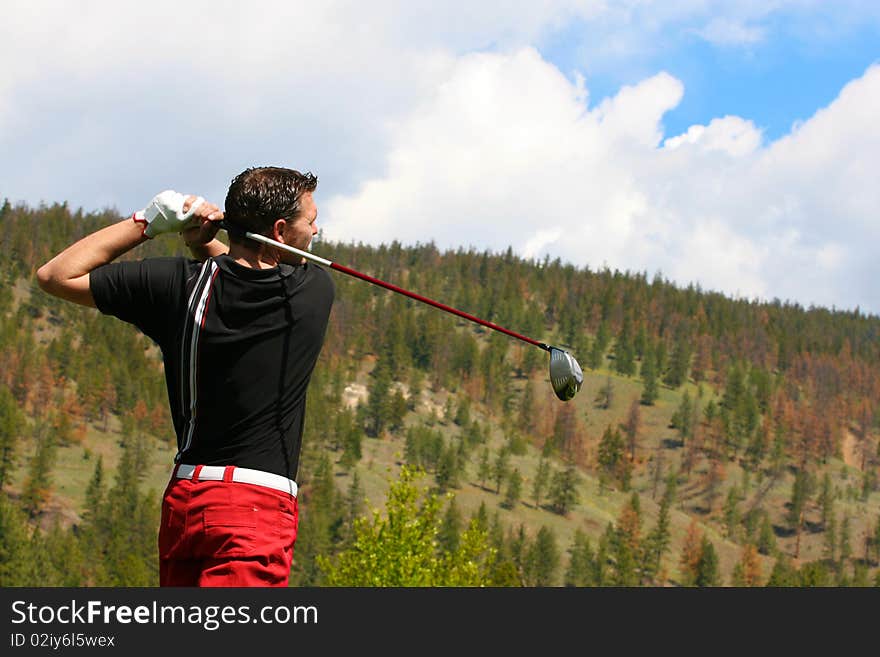
[[[296,479],[306,389],[333,304],[324,269],[149,258],[98,267],[90,287],[102,313],[162,349],[179,462]]]

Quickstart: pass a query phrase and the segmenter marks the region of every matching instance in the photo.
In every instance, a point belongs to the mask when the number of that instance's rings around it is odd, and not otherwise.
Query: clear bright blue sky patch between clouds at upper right
[[[870,3],[855,5],[842,5],[841,24],[825,34],[799,25],[797,12],[771,15],[760,23],[760,40],[750,43],[712,43],[694,33],[696,28],[676,23],[658,36],[662,47],[646,49],[637,57],[597,60],[580,45],[589,39],[592,26],[577,20],[544,37],[539,50],[563,72],[581,72],[593,102],[613,96],[623,85],[668,71],[687,90],[681,103],[664,116],[670,136],[734,114],[750,118],[774,140],[828,105],[847,82],[880,61],[878,13],[868,10],[860,18],[860,5]],[[800,18],[820,20],[809,12]]]

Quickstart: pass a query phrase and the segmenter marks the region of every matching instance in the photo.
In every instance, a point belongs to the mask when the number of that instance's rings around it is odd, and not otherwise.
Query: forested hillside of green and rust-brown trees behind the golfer
[[[34,272],[115,212],[0,208],[0,584],[153,586],[175,451],[158,350]],[[880,585],[880,318],[431,244],[362,281],[309,393],[301,585]],[[131,258],[182,253],[153,240]]]

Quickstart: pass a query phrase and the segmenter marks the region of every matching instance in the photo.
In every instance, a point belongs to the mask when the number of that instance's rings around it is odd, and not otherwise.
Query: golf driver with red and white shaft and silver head
[[[226,229],[227,232],[229,231],[229,226],[224,221],[221,221],[219,223],[222,228]],[[415,292],[404,290],[401,287],[398,287],[391,283],[386,283],[385,281],[374,278],[373,276],[362,274],[361,272],[351,269],[350,267],[331,262],[326,258],[321,258],[308,251],[303,251],[302,249],[297,249],[296,247],[288,246],[287,244],[282,244],[281,242],[276,242],[275,240],[266,237],[265,235],[259,235],[257,233],[251,233],[249,231],[244,231],[244,235],[245,237],[248,237],[257,242],[263,242],[264,244],[269,244],[284,251],[289,251],[290,253],[302,256],[306,260],[311,260],[312,262],[324,265],[325,267],[329,267],[330,269],[342,272],[343,274],[354,276],[355,278],[359,278],[368,283],[372,283],[373,285],[384,287],[386,290],[391,290],[392,292],[397,292],[398,294],[407,296],[410,299],[415,299],[416,301],[421,301],[422,303],[426,303],[429,306],[434,306],[435,308],[439,308],[440,310],[452,313],[453,315],[457,315],[458,317],[461,317],[463,319],[475,322],[480,326],[485,326],[486,328],[490,328],[494,331],[500,331],[501,333],[509,335],[512,338],[522,340],[523,342],[527,342],[530,345],[534,345],[535,347],[539,347],[544,351],[549,352],[550,383],[553,386],[553,392],[555,392],[556,396],[559,397],[559,399],[561,399],[562,401],[568,401],[569,399],[574,397],[575,394],[577,394],[577,391],[580,390],[581,384],[584,382],[584,373],[581,370],[581,366],[574,359],[574,356],[572,356],[564,349],[553,347],[543,342],[538,342],[537,340],[533,340],[532,338],[528,338],[524,335],[520,335],[519,333],[515,333],[514,331],[506,329],[503,326],[498,326],[497,324],[493,324],[492,322],[487,322],[484,319],[480,319],[479,317],[475,317],[474,315],[470,315],[461,310],[457,310],[456,308],[452,308],[451,306],[447,306],[446,304],[434,301],[433,299],[423,297],[422,295],[416,294]]]

